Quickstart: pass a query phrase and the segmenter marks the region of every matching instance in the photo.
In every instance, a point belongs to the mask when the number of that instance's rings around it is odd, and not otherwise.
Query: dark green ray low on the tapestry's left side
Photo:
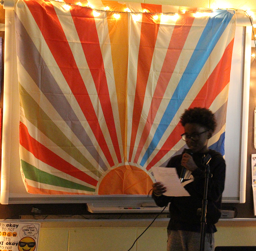
[[[41,171],[37,169],[35,166],[28,164],[24,160],[21,160],[21,166],[26,179],[34,180],[36,182],[40,182],[40,183],[48,184],[52,186],[60,186],[60,187],[83,190],[88,192],[95,192],[94,188],[83,186],[78,183],[69,181],[67,179],[63,179],[53,174]]]

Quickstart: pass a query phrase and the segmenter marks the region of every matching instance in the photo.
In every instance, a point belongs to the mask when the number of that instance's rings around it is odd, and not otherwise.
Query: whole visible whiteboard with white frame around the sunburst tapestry
[[[40,195],[28,194],[20,174],[19,96],[13,10],[5,10],[5,72],[1,204],[113,202],[116,206],[150,203],[145,195]],[[227,108],[223,202],[245,202],[249,110],[251,27],[236,27]]]

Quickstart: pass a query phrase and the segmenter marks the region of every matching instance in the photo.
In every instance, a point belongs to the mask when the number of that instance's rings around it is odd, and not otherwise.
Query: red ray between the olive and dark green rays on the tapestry
[[[91,184],[92,186],[97,186],[98,181],[96,179],[93,179],[88,174],[69,164],[66,160],[32,138],[28,133],[28,128],[22,122],[20,122],[20,145],[45,164]]]

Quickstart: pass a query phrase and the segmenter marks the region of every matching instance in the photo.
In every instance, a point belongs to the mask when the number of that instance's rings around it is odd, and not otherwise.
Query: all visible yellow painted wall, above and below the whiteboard
[[[255,0],[144,0],[150,4],[169,4],[205,8],[235,8],[256,12]],[[0,7],[0,23],[3,23],[4,10]],[[33,222],[33,220],[31,220]],[[38,251],[128,251],[136,238],[145,230],[148,224],[138,226],[127,220],[118,221],[111,226],[87,226],[83,220],[82,226],[69,222],[60,226],[59,222],[45,224],[42,220],[39,233]],[[164,251],[167,241],[167,221],[161,226],[151,226],[136,242],[132,251]],[[121,226],[122,225],[122,226]],[[125,226],[127,225],[127,226]],[[215,246],[256,246],[256,221],[219,222],[215,234]]]

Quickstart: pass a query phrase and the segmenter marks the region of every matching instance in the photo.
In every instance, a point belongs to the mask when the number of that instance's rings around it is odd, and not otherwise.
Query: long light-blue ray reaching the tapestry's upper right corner
[[[163,114],[160,124],[156,129],[156,133],[154,134],[154,137],[140,162],[141,166],[145,165],[149,156],[155,150],[164,132],[170,125],[180,105],[188,94],[188,91],[201,72],[206,60],[210,56],[216,43],[219,41],[220,36],[234,15],[226,10],[217,10],[214,12],[214,14],[214,16],[209,18],[204,28],[204,31],[196,45],[196,48],[188,62],[180,82],[177,85],[172,98]]]

